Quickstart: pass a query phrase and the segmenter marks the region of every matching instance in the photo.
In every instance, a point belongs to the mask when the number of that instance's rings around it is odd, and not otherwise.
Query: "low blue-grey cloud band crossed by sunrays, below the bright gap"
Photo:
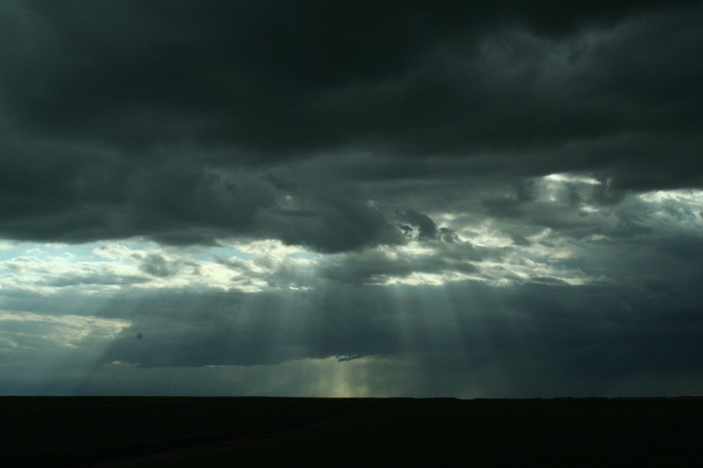
[[[341,288],[285,299],[177,296],[142,298],[150,309],[132,313],[132,327],[101,359],[189,367],[421,353],[435,366],[444,356],[473,372],[523,367],[535,372],[532,379],[559,374],[571,384],[638,372],[692,372],[703,364],[703,322],[688,302],[699,301],[699,294],[652,298],[634,289],[538,284],[497,294],[491,286],[462,282],[423,291],[373,288],[364,295]],[[212,307],[222,301],[231,304],[228,310]],[[316,305],[313,315],[306,313],[310,305]],[[193,308],[204,313],[196,317]]]

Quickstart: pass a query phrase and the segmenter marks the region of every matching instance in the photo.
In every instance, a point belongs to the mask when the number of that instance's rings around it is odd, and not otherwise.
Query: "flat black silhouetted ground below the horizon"
[[[0,467],[703,466],[703,399],[0,398]]]

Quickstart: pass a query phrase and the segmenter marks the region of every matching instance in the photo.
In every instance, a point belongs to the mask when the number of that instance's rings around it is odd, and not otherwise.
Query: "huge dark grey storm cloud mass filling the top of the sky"
[[[383,205],[360,178],[592,172],[613,202],[699,186],[702,14],[697,1],[4,1],[0,234],[336,252],[402,244],[397,210],[427,210]]]

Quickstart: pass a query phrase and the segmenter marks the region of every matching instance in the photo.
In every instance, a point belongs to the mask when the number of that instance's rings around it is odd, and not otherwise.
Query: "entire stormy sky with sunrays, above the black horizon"
[[[703,394],[702,24],[0,0],[0,394]]]

